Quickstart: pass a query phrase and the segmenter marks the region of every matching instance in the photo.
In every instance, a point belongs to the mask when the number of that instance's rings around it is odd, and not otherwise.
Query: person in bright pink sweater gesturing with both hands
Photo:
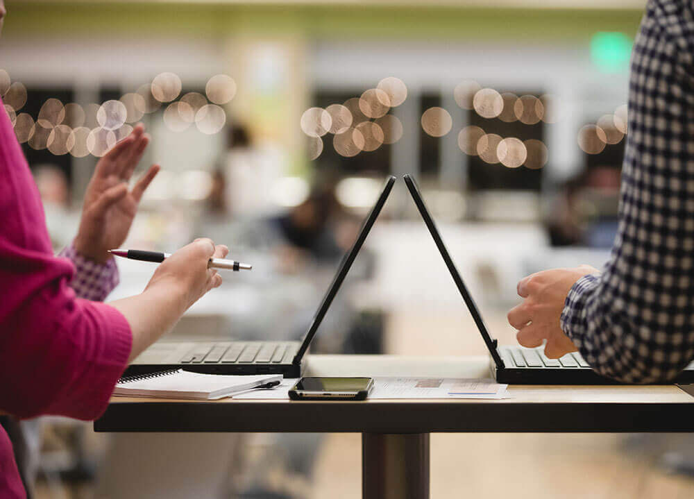
[[[0,28],[5,14],[0,0]],[[101,158],[87,187],[69,251],[95,275],[115,268],[108,250],[124,242],[139,199],[159,170],[154,165],[128,189],[148,142],[144,127],[136,126]],[[160,264],[142,294],[108,305],[78,298],[70,287],[74,264],[53,255],[37,187],[3,111],[0,220],[0,412],[19,418],[99,417],[128,362],[221,285],[208,260],[228,254],[226,246],[198,239]],[[90,271],[81,274],[87,275],[81,295],[103,299],[89,289]],[[25,496],[12,444],[0,430],[0,497]]]

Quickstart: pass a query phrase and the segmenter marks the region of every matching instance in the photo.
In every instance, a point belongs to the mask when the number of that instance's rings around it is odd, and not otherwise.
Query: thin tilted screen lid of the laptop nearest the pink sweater
[[[388,198],[388,195],[391,192],[391,189],[393,189],[393,183],[395,183],[395,177],[389,176],[389,178],[386,180],[385,185],[383,186],[383,191],[381,192],[380,196],[378,196],[378,199],[376,200],[375,205],[373,205],[373,208],[371,208],[371,212],[369,212],[369,215],[366,217],[366,220],[364,220],[364,225],[362,225],[361,230],[359,230],[359,235],[357,236],[357,239],[352,245],[352,248],[350,248],[350,251],[348,251],[346,255],[343,257],[339,269],[337,269],[337,273],[335,274],[335,278],[333,278],[330,287],[328,287],[328,292],[325,293],[325,296],[323,296],[321,305],[318,307],[316,315],[314,315],[313,321],[311,322],[310,328],[308,328],[308,332],[306,333],[306,336],[301,342],[301,348],[299,348],[298,352],[294,356],[294,364],[298,364],[298,362],[301,362],[301,358],[306,353],[308,346],[311,344],[313,337],[316,335],[316,332],[318,331],[318,328],[321,325],[321,321],[323,321],[323,317],[325,316],[325,312],[328,312],[328,308],[330,308],[330,303],[332,303],[333,298],[335,298],[337,291],[340,289],[342,281],[344,281],[344,278],[347,276],[350,267],[352,267],[352,263],[357,257],[359,250],[362,249],[362,245],[366,240],[366,236],[369,235],[369,230],[371,230],[373,223],[378,218],[378,215],[381,212],[381,208],[383,208],[383,205],[385,204],[386,199]]]

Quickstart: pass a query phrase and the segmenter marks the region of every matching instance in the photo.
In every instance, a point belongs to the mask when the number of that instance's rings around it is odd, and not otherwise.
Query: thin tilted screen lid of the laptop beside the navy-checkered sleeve
[[[475,305],[473,297],[468,291],[465,282],[463,282],[462,277],[460,277],[460,273],[458,272],[458,269],[455,267],[453,260],[448,254],[446,245],[443,244],[443,239],[441,239],[439,230],[437,229],[437,226],[434,224],[434,219],[432,219],[432,216],[429,213],[428,208],[424,204],[424,199],[422,198],[422,195],[419,192],[419,188],[417,187],[414,178],[412,178],[409,175],[405,175],[405,184],[407,184],[407,189],[409,189],[409,193],[412,194],[414,203],[417,205],[417,209],[419,210],[419,213],[424,219],[424,223],[426,224],[430,234],[434,238],[434,242],[436,243],[437,248],[439,248],[439,253],[441,253],[443,261],[446,262],[446,267],[448,267],[450,276],[453,278],[455,285],[458,287],[458,291],[460,291],[460,294],[463,297],[463,301],[465,302],[465,305],[468,307],[470,314],[473,316],[473,320],[475,321],[475,325],[477,325],[477,329],[480,330],[480,334],[482,335],[482,339],[484,339],[484,344],[486,344],[486,348],[489,350],[489,354],[493,358],[496,365],[499,368],[502,368],[504,366],[504,362],[501,360],[501,357],[498,351],[496,350],[496,340],[491,339],[491,336],[489,336],[489,331],[486,329],[486,325],[484,325],[484,321],[482,320],[480,310],[477,309],[477,305]]]

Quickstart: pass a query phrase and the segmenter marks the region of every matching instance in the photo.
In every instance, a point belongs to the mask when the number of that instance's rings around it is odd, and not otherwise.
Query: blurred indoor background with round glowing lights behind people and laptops
[[[0,94],[56,251],[96,161],[142,121],[140,170],[163,170],[124,246],[207,236],[253,264],[169,341],[301,338],[388,174],[418,179],[502,344],[518,279],[609,257],[643,0],[6,5]],[[118,264],[110,299],[142,291],[153,266]],[[402,182],[312,351],[486,353]],[[32,424],[40,498],[360,493],[358,434]],[[687,449],[679,436],[435,434],[432,496],[690,497],[694,482],[671,474]]]

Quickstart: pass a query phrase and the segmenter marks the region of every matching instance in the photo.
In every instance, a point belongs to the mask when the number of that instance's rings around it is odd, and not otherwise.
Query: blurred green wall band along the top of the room
[[[588,40],[596,31],[633,37],[641,10],[455,8],[444,6],[189,5],[7,0],[8,37],[80,34],[296,33],[307,39]]]

